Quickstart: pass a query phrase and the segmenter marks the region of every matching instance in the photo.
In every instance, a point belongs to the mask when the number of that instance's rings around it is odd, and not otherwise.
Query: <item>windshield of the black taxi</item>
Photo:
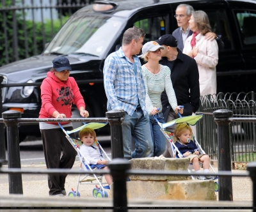
[[[44,54],[100,56],[116,38],[124,21],[118,17],[74,16],[61,27]]]

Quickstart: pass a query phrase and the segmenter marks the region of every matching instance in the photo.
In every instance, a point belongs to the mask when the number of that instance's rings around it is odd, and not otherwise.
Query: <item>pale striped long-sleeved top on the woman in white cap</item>
[[[172,87],[172,80],[170,78],[171,71],[168,66],[161,65],[159,73],[151,73],[145,65],[142,67],[143,78],[146,87],[146,109],[148,114],[156,107],[162,110],[161,93],[166,90],[168,100],[172,109],[177,107],[177,100],[175,92]]]

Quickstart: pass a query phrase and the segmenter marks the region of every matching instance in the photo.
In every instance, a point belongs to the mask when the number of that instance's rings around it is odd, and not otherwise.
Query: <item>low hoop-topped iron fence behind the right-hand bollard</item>
[[[200,108],[196,114],[204,114],[196,128],[197,139],[202,148],[212,159],[217,159],[218,145],[216,123],[212,116],[214,110],[228,109],[233,112],[233,117],[245,119],[233,119],[230,123],[230,144],[233,162],[256,161],[256,125],[250,120],[256,117],[255,93],[219,93],[216,96],[201,96]],[[245,121],[246,120],[246,121]]]

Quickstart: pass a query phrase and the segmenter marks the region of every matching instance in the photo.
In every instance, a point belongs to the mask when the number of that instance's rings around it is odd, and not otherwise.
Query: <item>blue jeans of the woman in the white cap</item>
[[[162,112],[154,115],[160,123],[164,123],[164,117]],[[156,119],[153,116],[149,116],[151,136],[154,144],[154,156],[163,155],[166,146],[166,137],[160,130]]]

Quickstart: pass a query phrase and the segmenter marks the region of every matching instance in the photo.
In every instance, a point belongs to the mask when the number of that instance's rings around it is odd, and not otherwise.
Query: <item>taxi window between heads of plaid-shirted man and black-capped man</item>
[[[145,31],[144,43],[151,40],[157,40],[163,34],[166,34],[166,17],[152,17],[134,22],[134,26],[140,27]]]

